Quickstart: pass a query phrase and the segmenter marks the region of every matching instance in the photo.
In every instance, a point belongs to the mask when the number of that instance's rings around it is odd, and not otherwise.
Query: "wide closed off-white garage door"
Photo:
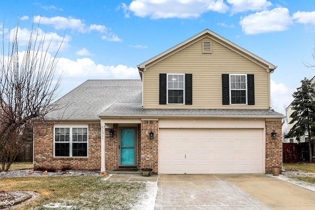
[[[263,173],[262,134],[262,129],[160,129],[158,173]]]

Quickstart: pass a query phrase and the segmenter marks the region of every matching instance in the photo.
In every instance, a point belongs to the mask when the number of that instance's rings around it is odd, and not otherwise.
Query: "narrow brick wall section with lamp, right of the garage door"
[[[271,138],[275,130],[277,139]],[[272,166],[282,167],[282,121],[266,120],[266,173],[270,173]]]

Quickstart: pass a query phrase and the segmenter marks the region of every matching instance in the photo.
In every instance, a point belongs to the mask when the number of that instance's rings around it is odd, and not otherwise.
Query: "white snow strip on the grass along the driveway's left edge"
[[[158,183],[156,181],[146,181],[146,193],[142,195],[133,210],[154,210],[158,193]]]

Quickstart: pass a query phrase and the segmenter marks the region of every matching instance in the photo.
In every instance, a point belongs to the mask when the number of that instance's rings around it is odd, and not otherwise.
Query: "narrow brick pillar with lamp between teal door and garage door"
[[[149,138],[151,130],[154,139]],[[141,168],[158,173],[158,120],[141,120]]]

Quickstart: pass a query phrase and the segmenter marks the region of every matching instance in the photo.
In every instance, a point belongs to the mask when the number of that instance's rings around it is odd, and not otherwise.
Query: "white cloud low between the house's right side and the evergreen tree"
[[[270,81],[271,86],[271,106],[277,112],[284,114],[284,107],[290,105],[293,101],[293,92],[295,89],[290,89],[284,84],[277,84],[275,81]]]

